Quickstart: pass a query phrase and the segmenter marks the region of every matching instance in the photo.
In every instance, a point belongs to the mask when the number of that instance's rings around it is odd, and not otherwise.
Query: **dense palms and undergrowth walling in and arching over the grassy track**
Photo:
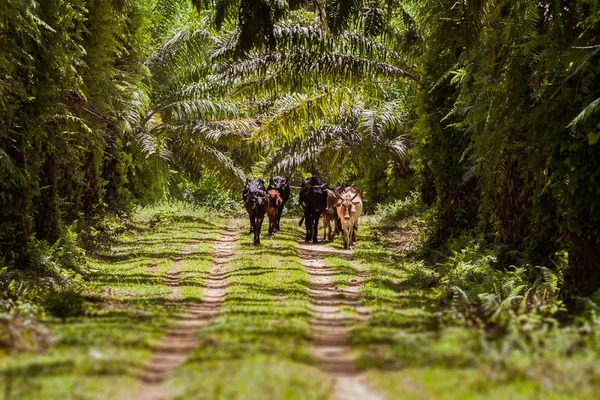
[[[599,53],[597,0],[0,0],[0,313],[85,314],[135,207],[319,174],[444,323],[593,336]]]

